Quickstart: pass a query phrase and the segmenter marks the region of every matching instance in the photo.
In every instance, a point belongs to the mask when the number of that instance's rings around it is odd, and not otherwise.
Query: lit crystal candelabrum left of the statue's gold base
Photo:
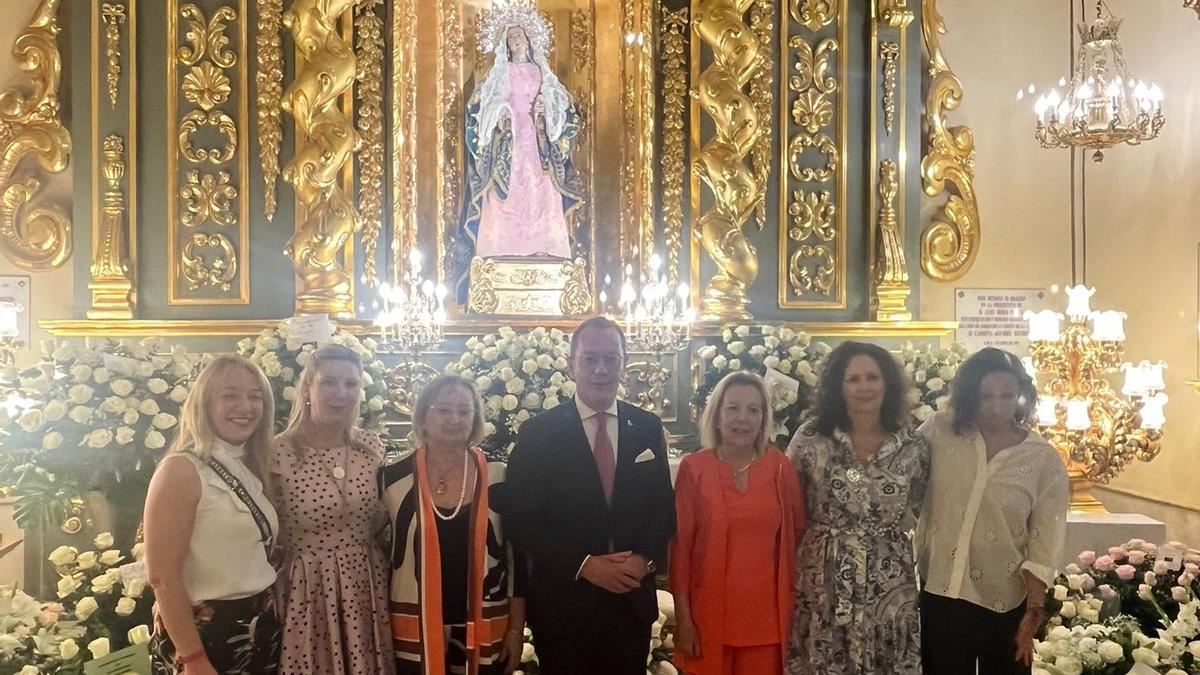
[[[383,311],[374,323],[388,348],[412,354],[415,360],[422,351],[442,344],[446,287],[421,277],[420,251],[409,252],[403,281],[395,286],[384,283],[379,294]]]

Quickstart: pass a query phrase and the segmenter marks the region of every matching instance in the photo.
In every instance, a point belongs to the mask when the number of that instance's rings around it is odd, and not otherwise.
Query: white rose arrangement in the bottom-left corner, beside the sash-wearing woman
[[[59,546],[48,560],[59,573],[58,598],[41,602],[0,586],[0,673],[83,673],[84,662],[150,640],[152,592],[140,544],[127,565],[102,533],[97,549]]]

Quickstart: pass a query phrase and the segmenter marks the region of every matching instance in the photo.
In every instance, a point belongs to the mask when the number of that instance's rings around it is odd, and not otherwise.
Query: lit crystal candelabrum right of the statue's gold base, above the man
[[[688,285],[679,283],[672,292],[661,268],[662,257],[652,255],[649,276],[642,277],[638,292],[634,287],[632,265],[625,267],[618,304],[625,313],[625,339],[640,352],[677,352],[691,341],[696,312],[688,306]]]

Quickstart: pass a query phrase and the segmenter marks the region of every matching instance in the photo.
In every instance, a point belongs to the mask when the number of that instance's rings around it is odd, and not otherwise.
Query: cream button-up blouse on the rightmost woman
[[[950,423],[938,412],[918,430],[932,465],[917,530],[924,590],[1009,611],[1025,599],[1022,569],[1054,584],[1067,534],[1067,470],[1032,431],[989,460],[978,431],[959,436]]]

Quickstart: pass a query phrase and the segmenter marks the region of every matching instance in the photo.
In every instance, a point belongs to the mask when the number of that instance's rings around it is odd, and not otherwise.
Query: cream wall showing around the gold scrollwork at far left
[[[0,22],[0,88],[7,89],[17,82],[24,82],[25,73],[17,70],[12,58],[12,41],[25,29],[28,18],[37,7],[40,0],[4,0],[4,10],[11,20]],[[80,143],[78,138],[72,139]],[[24,166],[24,163],[23,163]],[[46,181],[44,196],[50,203],[58,204],[70,211],[71,195],[71,169],[59,175],[50,177]],[[41,198],[41,197],[40,197]],[[73,227],[90,227],[90,223],[73,223]],[[72,256],[89,256],[90,252],[76,250]],[[18,364],[26,365],[37,360],[37,345],[49,335],[37,328],[37,322],[47,318],[71,318],[72,315],[72,283],[74,275],[71,271],[71,261],[61,268],[46,273],[29,273],[12,264],[8,258],[0,256],[0,275],[28,275],[30,277],[30,310],[32,311],[30,327],[32,329],[32,348],[18,352]]]

